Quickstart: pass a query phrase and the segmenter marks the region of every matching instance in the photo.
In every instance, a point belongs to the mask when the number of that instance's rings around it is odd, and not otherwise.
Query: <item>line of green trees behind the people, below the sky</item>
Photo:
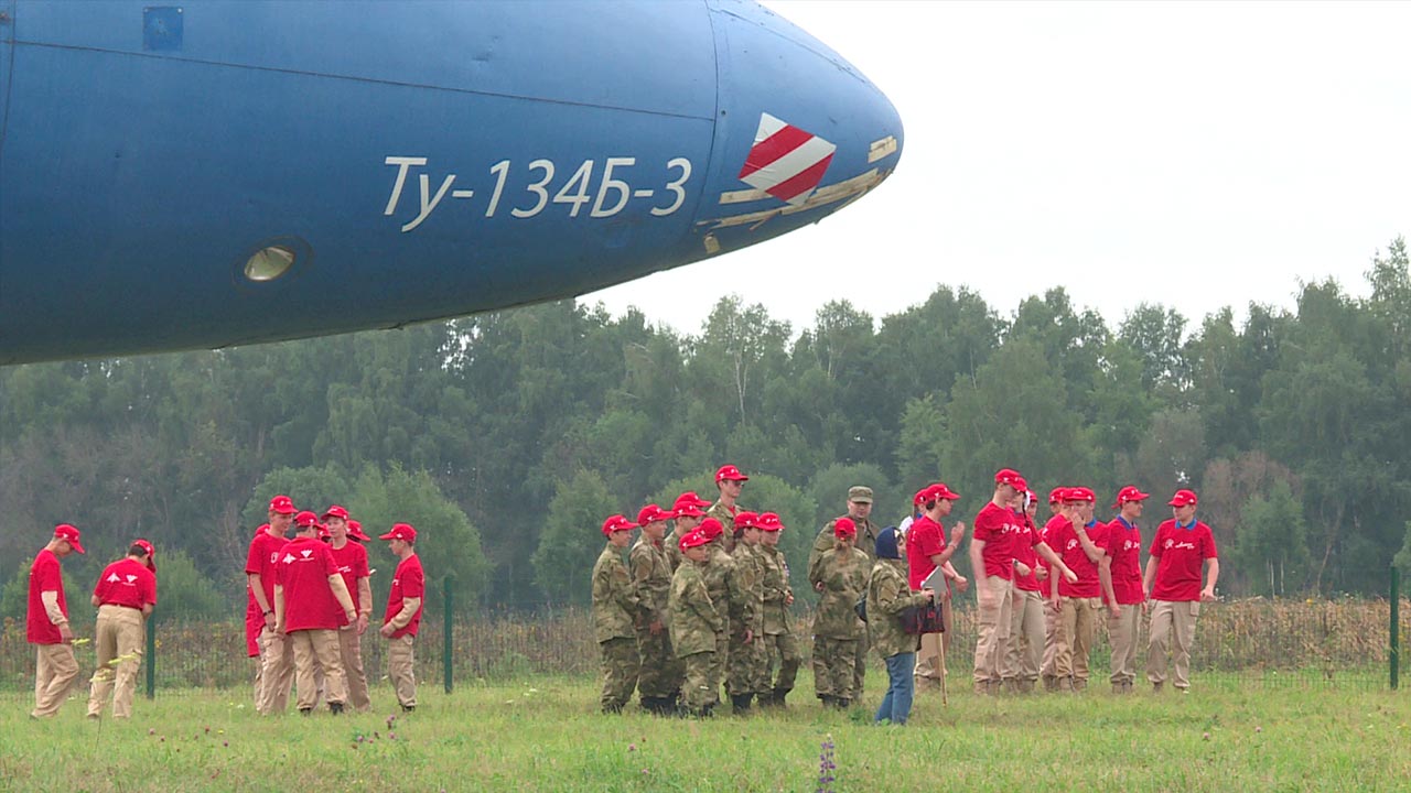
[[[727,461],[751,476],[741,504],[783,518],[796,580],[849,485],[873,487],[875,518],[895,523],[912,491],[944,480],[968,516],[1009,466],[1044,492],[1134,483],[1161,495],[1147,536],[1164,497],[1195,488],[1225,593],[1380,594],[1393,557],[1411,564],[1404,238],[1366,279],[1366,298],[1309,282],[1292,310],[1252,303],[1240,322],[1228,308],[1187,317],[1177,298],[1110,327],[1062,288],[1000,316],[940,285],[880,320],[834,301],[797,332],[738,295],[697,334],[560,301],[6,367],[0,612],[23,614],[34,552],[73,522],[93,549],[66,564],[80,591],[145,536],[164,610],[236,614],[275,492],[343,504],[370,533],[416,525],[428,579],[453,573],[466,608],[581,604],[604,516],[683,490],[714,498]],[[389,574],[384,556],[371,549]]]

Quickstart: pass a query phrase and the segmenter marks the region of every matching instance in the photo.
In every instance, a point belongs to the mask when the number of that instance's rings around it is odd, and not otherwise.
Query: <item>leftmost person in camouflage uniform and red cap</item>
[[[636,523],[622,515],[602,522],[607,547],[593,566],[593,634],[602,655],[602,713],[622,713],[632,700],[641,658],[636,655],[635,617],[641,610],[622,549]]]

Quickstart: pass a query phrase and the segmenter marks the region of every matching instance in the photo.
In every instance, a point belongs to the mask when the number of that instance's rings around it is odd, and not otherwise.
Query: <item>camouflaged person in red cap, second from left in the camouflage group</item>
[[[666,601],[672,594],[672,563],[662,547],[662,536],[670,518],[672,514],[656,504],[643,507],[636,515],[642,536],[628,553],[632,587],[641,605],[636,615],[636,652],[642,658],[642,672],[636,679],[636,693],[642,710],[658,715],[676,713],[676,696],[682,684],[666,615]]]

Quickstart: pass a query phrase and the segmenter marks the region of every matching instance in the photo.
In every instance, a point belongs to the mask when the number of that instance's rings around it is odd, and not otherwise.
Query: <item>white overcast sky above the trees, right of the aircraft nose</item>
[[[694,334],[738,292],[797,332],[831,299],[880,319],[968,285],[1009,316],[1064,285],[1113,327],[1144,301],[1194,330],[1326,277],[1364,295],[1374,251],[1411,236],[1411,3],[768,6],[892,99],[896,174],[584,301]]]

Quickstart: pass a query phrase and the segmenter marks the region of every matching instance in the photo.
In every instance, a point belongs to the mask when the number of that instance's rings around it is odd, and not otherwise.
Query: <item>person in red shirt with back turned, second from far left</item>
[[[97,650],[97,666],[89,684],[89,718],[103,714],[103,704],[110,696],[114,718],[133,715],[137,667],[143,662],[147,638],[144,628],[157,605],[155,553],[152,543],[145,539],[133,540],[127,556],[104,567],[93,586],[92,603],[97,607],[93,648]]]

